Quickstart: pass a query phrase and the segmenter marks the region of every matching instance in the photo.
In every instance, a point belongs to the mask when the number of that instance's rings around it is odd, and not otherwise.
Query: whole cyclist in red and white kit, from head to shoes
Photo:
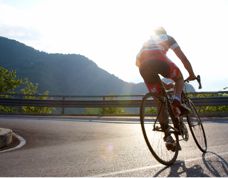
[[[181,50],[176,40],[169,36],[163,27],[154,29],[154,34],[150,39],[143,44],[140,52],[136,58],[136,65],[139,67],[139,72],[144,79],[144,82],[149,92],[161,94],[161,86],[159,85],[159,76],[162,75],[165,78],[172,79],[175,82],[173,106],[180,109],[180,114],[184,115],[189,112],[189,108],[181,103],[181,93],[184,87],[184,79],[180,69],[166,56],[169,49],[172,49],[174,53],[183,63],[185,69],[189,73],[188,80],[194,80],[196,78],[192,66]],[[171,85],[165,84],[165,87],[171,87]],[[161,107],[161,103],[158,99],[154,98],[157,105],[158,120],[161,128],[165,133],[164,141],[166,147],[171,149],[173,147],[174,140],[168,134],[168,113],[166,108]]]

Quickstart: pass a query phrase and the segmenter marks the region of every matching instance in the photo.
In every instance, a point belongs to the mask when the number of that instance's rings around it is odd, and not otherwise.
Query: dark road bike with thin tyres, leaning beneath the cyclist
[[[199,88],[201,89],[201,80],[199,75],[197,76],[196,80],[198,81]],[[186,82],[189,81],[185,80],[185,83]],[[140,123],[142,133],[152,155],[158,162],[164,165],[172,165],[176,161],[178,153],[181,150],[180,141],[189,140],[189,131],[186,126],[186,121],[198,148],[203,153],[207,152],[207,139],[204,127],[197,112],[197,108],[188,96],[187,92],[182,91],[182,103],[185,104],[191,111],[187,115],[180,116],[177,114],[172,105],[174,94],[173,91],[166,90],[161,79],[160,84],[162,94],[157,95],[156,93],[152,92],[145,94],[140,106]],[[154,106],[155,98],[161,103],[159,110],[161,110],[162,107],[165,107],[165,111],[169,116],[168,132],[175,141],[175,146],[172,150],[167,149],[163,140],[164,131],[162,130],[158,119],[160,111],[156,111]],[[156,118],[154,117],[153,112],[157,113]]]

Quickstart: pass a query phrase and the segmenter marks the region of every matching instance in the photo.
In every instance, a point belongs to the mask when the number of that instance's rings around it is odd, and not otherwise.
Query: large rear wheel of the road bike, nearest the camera
[[[143,136],[150,152],[155,159],[164,165],[171,165],[177,159],[179,152],[178,146],[176,146],[175,150],[173,151],[166,148],[165,142],[163,140],[164,132],[161,130],[161,126],[158,122],[155,124],[156,119],[151,114],[151,111],[155,111],[155,107],[152,107],[152,100],[152,95],[148,93],[143,97],[141,103],[140,122]],[[172,125],[171,121],[169,124]],[[178,135],[172,132],[171,136],[175,140],[176,144],[179,144]]]

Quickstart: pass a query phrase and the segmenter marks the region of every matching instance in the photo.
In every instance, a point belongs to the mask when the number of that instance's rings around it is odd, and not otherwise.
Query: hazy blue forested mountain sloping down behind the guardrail
[[[143,83],[127,83],[78,54],[48,54],[0,37],[0,65],[39,84],[50,95],[144,94]],[[190,90],[194,88],[190,86]]]

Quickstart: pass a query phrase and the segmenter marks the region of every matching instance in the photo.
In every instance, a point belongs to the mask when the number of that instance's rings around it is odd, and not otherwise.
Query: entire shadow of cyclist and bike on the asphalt
[[[166,166],[159,170],[154,177],[223,177],[228,176],[228,163],[221,156],[213,152],[207,152],[202,156],[203,164],[186,166],[184,161],[176,161],[172,166]],[[208,175],[210,174],[210,175]]]

